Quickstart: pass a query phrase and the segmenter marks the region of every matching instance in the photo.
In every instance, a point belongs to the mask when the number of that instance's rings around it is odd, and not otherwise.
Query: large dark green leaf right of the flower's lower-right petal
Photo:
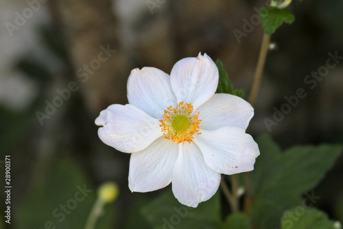
[[[279,226],[284,210],[303,204],[301,195],[324,177],[342,146],[295,146],[281,153],[279,146],[268,136],[259,138],[257,143],[261,155],[252,171],[252,192],[255,195],[252,223],[257,228],[274,229]]]

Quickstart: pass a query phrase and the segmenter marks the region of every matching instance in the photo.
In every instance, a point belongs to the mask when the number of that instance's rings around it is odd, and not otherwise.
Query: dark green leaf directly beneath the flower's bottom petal
[[[141,209],[145,219],[158,228],[217,228],[220,225],[219,193],[197,208],[190,208],[178,202],[171,190]]]

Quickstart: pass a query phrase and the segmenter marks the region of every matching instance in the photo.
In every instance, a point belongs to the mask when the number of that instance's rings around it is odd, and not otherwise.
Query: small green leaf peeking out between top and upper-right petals
[[[215,65],[217,65],[219,72],[219,82],[215,93],[226,93],[244,98],[244,89],[233,90],[233,83],[228,79],[228,73],[226,72],[226,69],[224,69],[222,61],[215,61]]]

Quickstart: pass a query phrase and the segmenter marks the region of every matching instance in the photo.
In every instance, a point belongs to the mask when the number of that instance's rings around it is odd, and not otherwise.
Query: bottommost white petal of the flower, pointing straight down
[[[171,178],[172,190],[181,204],[196,208],[200,202],[215,195],[220,184],[220,173],[206,166],[196,144],[178,145],[178,159]]]

